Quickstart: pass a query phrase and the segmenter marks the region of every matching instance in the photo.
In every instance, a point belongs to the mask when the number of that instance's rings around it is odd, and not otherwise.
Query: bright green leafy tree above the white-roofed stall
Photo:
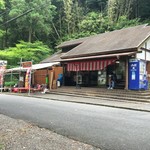
[[[44,45],[42,42],[24,42],[16,44],[16,47],[10,47],[0,51],[0,59],[7,60],[8,66],[18,66],[18,63],[22,61],[33,61],[33,63],[39,63],[46,57],[52,54],[52,50]]]

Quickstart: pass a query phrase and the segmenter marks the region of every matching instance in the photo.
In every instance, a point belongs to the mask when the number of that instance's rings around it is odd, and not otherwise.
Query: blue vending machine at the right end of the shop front
[[[146,90],[148,89],[148,81],[146,77],[146,63],[143,60],[129,60],[129,89],[130,90]]]

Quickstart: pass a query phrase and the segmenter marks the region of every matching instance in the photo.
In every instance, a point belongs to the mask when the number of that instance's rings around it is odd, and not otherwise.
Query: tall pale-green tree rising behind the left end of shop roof
[[[53,0],[56,5],[55,27],[59,40],[71,37],[79,29],[78,23],[83,19],[83,9],[79,1],[74,0]]]

